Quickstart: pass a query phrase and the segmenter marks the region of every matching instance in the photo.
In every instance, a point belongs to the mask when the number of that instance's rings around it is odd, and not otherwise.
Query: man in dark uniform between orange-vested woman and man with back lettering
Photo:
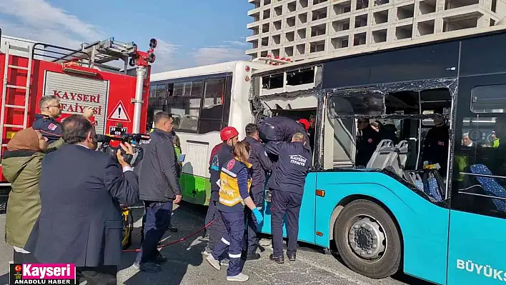
[[[262,209],[264,204],[264,190],[265,190],[265,174],[271,170],[272,162],[267,156],[264,149],[264,144],[260,141],[258,135],[258,127],[256,124],[246,125],[246,141],[249,144],[251,152],[249,154],[248,162],[252,164],[252,186],[249,190],[249,196],[252,197],[255,206]],[[247,219],[247,250],[244,253],[247,260],[259,259],[260,254],[257,253],[258,239],[257,239],[257,220],[254,219],[252,211],[246,208]]]

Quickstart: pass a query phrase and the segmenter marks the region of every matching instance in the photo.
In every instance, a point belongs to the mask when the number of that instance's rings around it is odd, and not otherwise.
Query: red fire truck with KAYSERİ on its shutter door
[[[146,131],[147,103],[143,102],[149,96],[149,64],[155,58],[155,39],[151,39],[149,51],[139,51],[133,42],[114,38],[68,49],[2,37],[1,30],[0,41],[0,157],[16,131],[34,122],[41,96],[59,98],[61,119],[93,108],[91,119],[96,122],[97,134],[119,136]],[[123,66],[111,65],[117,62]],[[0,186],[6,194],[10,185],[1,175],[1,161]]]

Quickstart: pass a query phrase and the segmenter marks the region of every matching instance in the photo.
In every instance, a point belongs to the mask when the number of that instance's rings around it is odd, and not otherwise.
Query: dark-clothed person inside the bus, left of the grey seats
[[[360,136],[357,138],[357,155],[355,164],[357,166],[367,166],[376,146],[381,141],[381,135],[372,129],[369,119],[358,119],[357,121]]]

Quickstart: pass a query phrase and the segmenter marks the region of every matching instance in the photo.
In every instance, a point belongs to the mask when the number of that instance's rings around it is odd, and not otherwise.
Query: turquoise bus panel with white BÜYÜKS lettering
[[[506,220],[452,210],[448,284],[504,284]]]

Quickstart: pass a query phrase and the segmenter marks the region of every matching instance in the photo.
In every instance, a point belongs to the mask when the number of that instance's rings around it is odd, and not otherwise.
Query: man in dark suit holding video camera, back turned
[[[61,123],[64,145],[42,161],[41,213],[26,249],[42,264],[75,264],[87,284],[116,284],[123,219],[119,204],[139,201],[139,184],[121,151],[95,151],[95,128],[82,115]],[[121,144],[134,154],[130,144]]]

